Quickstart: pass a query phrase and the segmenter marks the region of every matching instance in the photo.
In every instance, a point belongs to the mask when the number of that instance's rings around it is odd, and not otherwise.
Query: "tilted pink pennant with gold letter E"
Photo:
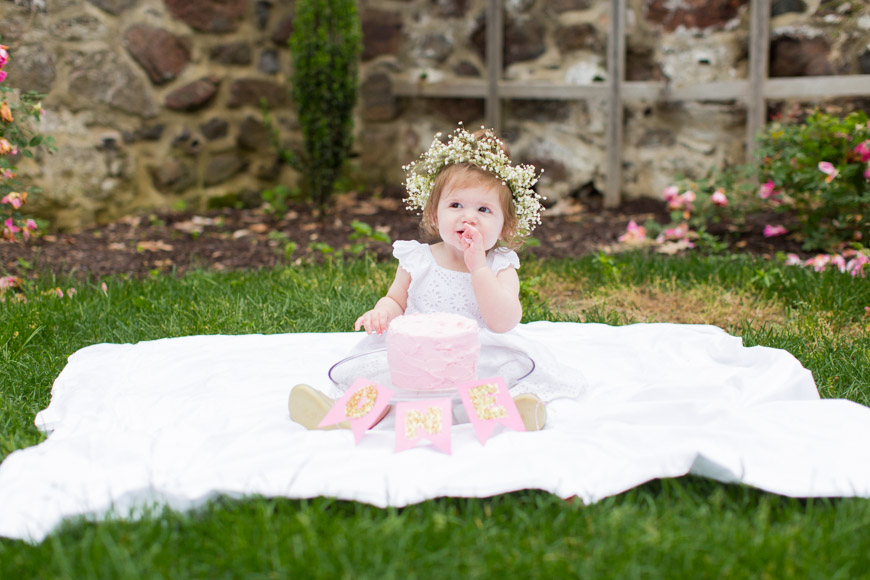
[[[456,389],[481,444],[486,444],[497,425],[514,431],[526,430],[502,377],[479,379],[461,384]]]

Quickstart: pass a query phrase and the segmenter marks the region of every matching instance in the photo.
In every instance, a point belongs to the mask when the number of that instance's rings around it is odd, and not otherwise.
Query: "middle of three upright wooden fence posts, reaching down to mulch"
[[[607,36],[607,76],[610,79],[607,117],[607,186],[604,206],[616,207],[622,199],[622,82],[625,78],[625,0],[610,2]]]

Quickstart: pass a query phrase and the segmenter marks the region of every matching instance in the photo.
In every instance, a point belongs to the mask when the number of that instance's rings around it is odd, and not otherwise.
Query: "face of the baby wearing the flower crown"
[[[436,219],[444,243],[463,251],[462,238],[471,226],[480,232],[483,247],[490,250],[504,229],[498,188],[478,180],[448,184],[438,201]]]

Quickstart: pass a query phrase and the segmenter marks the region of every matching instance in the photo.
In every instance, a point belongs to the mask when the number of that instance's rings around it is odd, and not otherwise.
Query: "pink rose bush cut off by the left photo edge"
[[[9,62],[9,47],[0,44],[0,83],[7,79],[3,67]],[[33,157],[33,149],[54,151],[54,142],[33,129],[42,117],[40,95],[19,94],[8,84],[0,84],[0,241],[29,240],[38,229],[32,218],[22,214],[28,195],[37,188],[25,186],[18,178],[15,163],[19,157]]]

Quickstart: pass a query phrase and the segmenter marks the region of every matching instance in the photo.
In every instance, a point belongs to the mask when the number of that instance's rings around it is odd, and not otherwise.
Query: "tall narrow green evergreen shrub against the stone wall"
[[[309,199],[324,209],[353,142],[362,51],[356,1],[297,0],[290,50],[304,140],[299,168]]]

